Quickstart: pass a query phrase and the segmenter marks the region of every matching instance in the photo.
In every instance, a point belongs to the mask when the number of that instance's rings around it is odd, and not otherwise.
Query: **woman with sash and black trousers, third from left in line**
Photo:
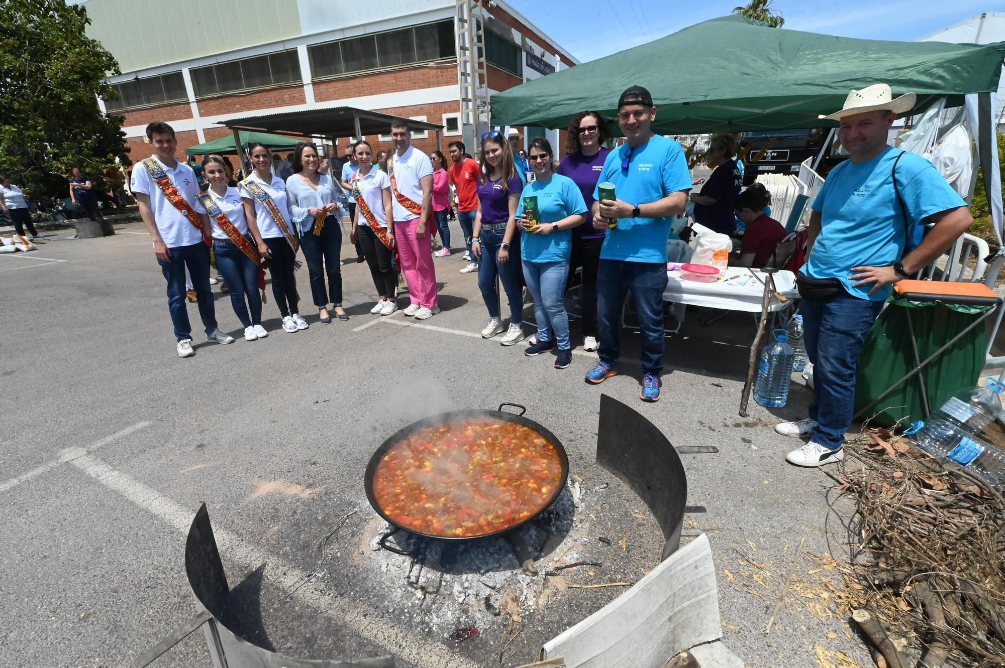
[[[307,329],[296,308],[296,249],[299,239],[289,218],[286,185],[271,171],[272,152],[257,141],[248,145],[254,172],[240,183],[244,218],[272,275],[272,297],[282,315],[282,331]]]

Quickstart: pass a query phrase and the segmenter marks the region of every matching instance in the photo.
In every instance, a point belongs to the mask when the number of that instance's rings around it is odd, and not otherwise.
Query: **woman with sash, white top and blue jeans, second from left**
[[[244,325],[245,341],[265,338],[268,332],[261,326],[261,295],[258,294],[261,255],[248,241],[241,196],[236,188],[227,186],[227,165],[219,155],[207,155],[203,159],[202,174],[209,182],[209,190],[199,195],[199,202],[209,214],[213,227],[213,253],[217,269],[230,288],[230,305]]]

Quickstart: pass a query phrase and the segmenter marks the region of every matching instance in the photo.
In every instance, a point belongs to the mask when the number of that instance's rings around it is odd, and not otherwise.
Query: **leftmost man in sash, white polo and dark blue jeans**
[[[147,139],[154,154],[133,170],[130,184],[140,207],[154,255],[168,282],[168,310],[178,340],[180,357],[191,357],[192,325],[185,305],[185,268],[192,277],[199,305],[199,316],[206,338],[217,343],[231,343],[216,323],[213,293],[209,287],[209,217],[197,200],[199,186],[192,168],[175,157],[175,130],[167,123],[147,125]]]

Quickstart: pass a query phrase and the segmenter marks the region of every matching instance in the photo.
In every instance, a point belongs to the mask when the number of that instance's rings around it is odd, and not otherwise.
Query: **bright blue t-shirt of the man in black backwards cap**
[[[628,144],[625,143],[608,153],[597,181],[598,186],[604,182],[614,184],[614,195],[618,200],[637,206],[691,189],[684,151],[673,139],[653,135],[632,149],[628,169],[622,170],[621,162],[627,150]],[[598,189],[593,190],[593,197],[600,199]],[[600,259],[665,263],[666,240],[672,220],[672,216],[618,219],[618,226],[608,230],[604,237]]]

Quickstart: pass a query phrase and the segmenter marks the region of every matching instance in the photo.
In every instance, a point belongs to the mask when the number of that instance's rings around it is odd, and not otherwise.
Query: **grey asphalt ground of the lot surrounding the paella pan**
[[[715,313],[688,310],[681,333],[667,339],[662,400],[646,404],[629,332],[622,375],[600,387],[583,382],[595,356],[580,347],[569,368],[556,370],[547,355],[523,356],[523,345],[482,340],[487,314],[455,253],[435,260],[443,312],[430,320],[371,316],[369,272],[351,263],[343,267],[350,321],[321,324],[305,303],[311,328],[285,334],[268,291],[270,335],[245,342],[229,298],[217,292],[220,326],[238,340],[205,343],[190,305],[197,354],[181,359],[142,225],[121,225],[106,239],[72,236],[54,233],[38,251],[0,256],[0,665],[127,666],[188,620],[195,610],[184,538],[205,502],[231,587],[249,602],[234,624],[253,641],[291,656],[389,652],[408,667],[498,666],[507,613],[454,647],[444,636],[464,614],[416,621],[367,571],[366,539],[379,523],[362,471],[384,438],[414,419],[524,404],[563,441],[584,488],[609,484],[585,494],[577,511],[581,534],[614,542],[581,551],[604,562],[596,581],[634,581],[658,563],[661,538],[637,498],[594,462],[601,392],[676,445],[719,448],[681,458],[687,503],[705,508],[686,517],[685,530],[712,541],[726,644],[750,665],[815,666],[816,646],[869,665],[828,594],[840,591],[840,579],[825,555],[846,554],[847,509],[831,510],[834,485],[821,471],[785,463],[799,441],[772,429],[805,415],[808,392],[793,384],[785,408],[751,401],[751,416],[738,415],[755,332],[749,314],[705,327]],[[306,270],[298,281],[310,295]],[[579,346],[578,325],[573,333]],[[335,552],[319,552],[317,539],[351,511]],[[595,525],[585,522],[591,512]],[[766,634],[804,538],[794,577],[802,594],[785,598]],[[554,596],[525,620],[517,653],[501,665],[535,660],[544,640],[619,591]],[[255,611],[260,619],[248,619]],[[210,665],[201,633],[154,664]]]

